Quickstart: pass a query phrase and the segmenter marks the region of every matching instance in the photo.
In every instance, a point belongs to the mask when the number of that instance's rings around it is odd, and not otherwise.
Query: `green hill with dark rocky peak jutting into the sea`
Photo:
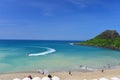
[[[115,30],[106,30],[93,39],[75,44],[120,50],[120,35]]]

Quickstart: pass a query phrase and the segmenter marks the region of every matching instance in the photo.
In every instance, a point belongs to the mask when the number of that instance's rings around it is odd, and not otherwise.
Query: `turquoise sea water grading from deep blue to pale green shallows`
[[[0,73],[78,70],[80,65],[96,69],[120,64],[120,51],[70,45],[71,42],[0,40]],[[29,56],[28,53],[43,55]]]

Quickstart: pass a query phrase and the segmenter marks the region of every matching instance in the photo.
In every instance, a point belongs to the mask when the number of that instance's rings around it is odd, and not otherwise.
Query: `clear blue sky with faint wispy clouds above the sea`
[[[120,0],[0,0],[0,39],[88,40],[120,33]]]

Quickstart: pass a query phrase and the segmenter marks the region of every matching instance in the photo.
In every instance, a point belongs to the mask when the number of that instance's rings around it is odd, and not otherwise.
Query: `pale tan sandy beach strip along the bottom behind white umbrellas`
[[[112,77],[118,77],[120,78],[120,68],[117,69],[111,69],[111,70],[104,70],[104,72],[101,71],[94,71],[94,72],[72,72],[72,75],[69,75],[68,72],[51,72],[52,76],[58,76],[61,80],[93,80],[93,79],[99,79],[99,78],[112,78]],[[47,75],[42,75],[41,73],[35,73],[35,72],[24,72],[24,73],[7,73],[7,74],[1,74],[0,80],[12,80],[13,78],[20,78],[23,79],[24,77],[27,77],[28,75],[31,75],[32,77],[40,77],[43,78]]]

